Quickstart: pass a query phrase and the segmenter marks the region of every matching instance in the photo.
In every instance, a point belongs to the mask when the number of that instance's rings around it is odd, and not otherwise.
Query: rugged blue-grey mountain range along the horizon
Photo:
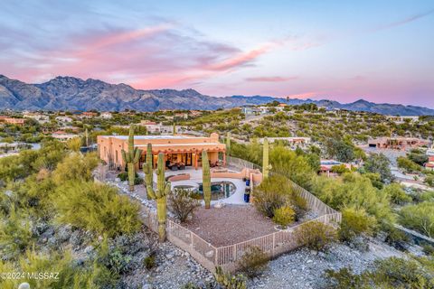
[[[0,109],[14,110],[91,110],[156,111],[159,109],[206,109],[261,105],[284,98],[264,96],[210,97],[194,89],[133,89],[127,84],[110,84],[98,79],[57,77],[41,84],[28,84],[0,75]],[[367,111],[383,115],[422,116],[434,115],[434,109],[427,107],[403,106],[397,104],[376,104],[363,99],[342,104],[333,100],[312,100],[290,98],[288,104],[315,103],[327,109],[341,108]]]

